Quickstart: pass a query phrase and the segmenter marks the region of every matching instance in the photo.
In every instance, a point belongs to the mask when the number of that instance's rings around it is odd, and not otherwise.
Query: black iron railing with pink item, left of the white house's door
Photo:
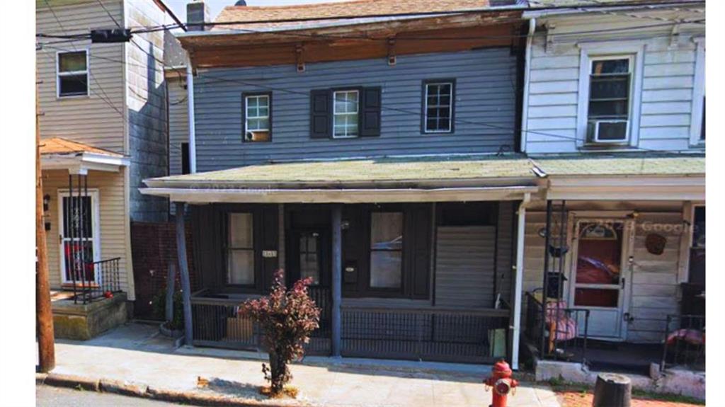
[[[526,293],[526,337],[536,345],[539,358],[587,363],[589,310],[566,308],[549,301],[547,310],[531,293]],[[542,320],[542,318],[545,319]]]

